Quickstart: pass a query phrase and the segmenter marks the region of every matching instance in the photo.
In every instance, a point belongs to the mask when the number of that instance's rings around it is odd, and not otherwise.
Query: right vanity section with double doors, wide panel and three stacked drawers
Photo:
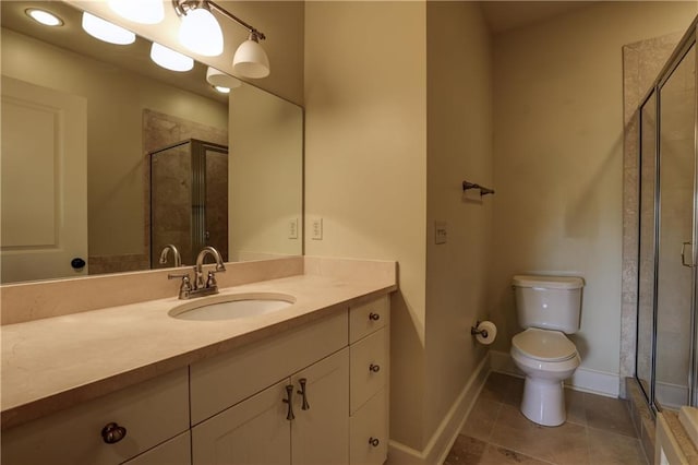
[[[383,464],[388,319],[385,296],[192,365],[193,465]]]

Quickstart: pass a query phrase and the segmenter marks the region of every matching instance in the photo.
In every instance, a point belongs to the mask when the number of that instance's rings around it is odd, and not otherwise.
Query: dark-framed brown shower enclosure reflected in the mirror
[[[173,245],[192,265],[206,246],[228,261],[228,147],[196,139],[169,145],[151,158],[151,267]]]

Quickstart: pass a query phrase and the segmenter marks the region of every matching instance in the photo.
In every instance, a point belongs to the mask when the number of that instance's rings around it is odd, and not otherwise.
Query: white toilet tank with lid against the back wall
[[[582,278],[517,275],[512,284],[521,327],[555,330],[566,334],[579,330]]]

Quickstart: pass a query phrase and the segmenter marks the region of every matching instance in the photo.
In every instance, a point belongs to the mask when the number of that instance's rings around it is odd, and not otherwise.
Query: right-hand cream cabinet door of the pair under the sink
[[[308,409],[303,409],[305,380]],[[349,349],[291,377],[296,386],[291,422],[293,465],[349,463]]]

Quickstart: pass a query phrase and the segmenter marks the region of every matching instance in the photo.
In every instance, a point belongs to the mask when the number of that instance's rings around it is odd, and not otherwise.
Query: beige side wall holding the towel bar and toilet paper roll
[[[474,2],[428,2],[426,389],[429,439],[485,356],[470,326],[488,312],[493,186],[492,46]],[[447,223],[435,245],[434,222]]]

